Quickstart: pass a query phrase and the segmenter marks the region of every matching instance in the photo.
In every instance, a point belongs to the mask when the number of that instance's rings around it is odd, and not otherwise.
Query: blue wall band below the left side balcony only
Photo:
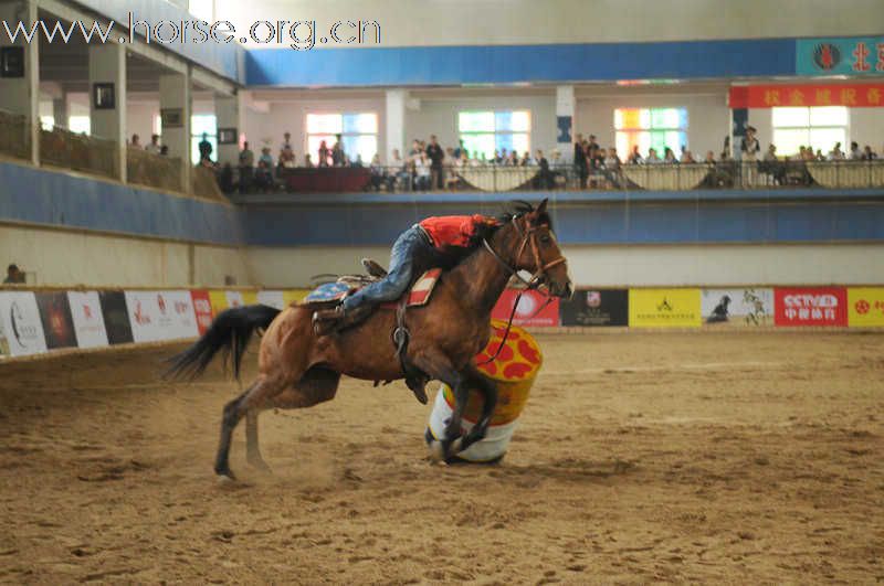
[[[0,162],[0,221],[203,242],[243,243],[232,205]]]

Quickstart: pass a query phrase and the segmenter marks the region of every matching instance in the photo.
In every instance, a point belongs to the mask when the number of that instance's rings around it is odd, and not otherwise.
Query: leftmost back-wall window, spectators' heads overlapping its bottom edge
[[[340,135],[341,147],[350,161],[359,157],[369,164],[378,152],[378,115],[373,113],[308,114],[307,152],[314,164],[319,163],[319,145],[328,150],[335,146],[335,135]]]

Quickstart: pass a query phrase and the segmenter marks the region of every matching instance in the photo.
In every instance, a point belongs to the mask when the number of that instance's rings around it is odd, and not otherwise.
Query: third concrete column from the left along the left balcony
[[[159,77],[159,110],[162,117],[162,145],[169,157],[181,159],[181,190],[190,193],[190,72]]]

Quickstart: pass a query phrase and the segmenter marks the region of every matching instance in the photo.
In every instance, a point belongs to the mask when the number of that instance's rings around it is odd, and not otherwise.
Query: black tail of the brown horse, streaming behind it
[[[193,380],[201,375],[219,351],[230,363],[233,375],[240,377],[240,365],[252,334],[266,328],[280,310],[263,305],[236,307],[218,315],[212,324],[193,345],[171,356],[166,377]]]

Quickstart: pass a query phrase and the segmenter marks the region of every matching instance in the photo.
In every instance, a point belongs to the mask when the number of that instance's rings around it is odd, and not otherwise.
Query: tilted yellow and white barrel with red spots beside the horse
[[[506,322],[492,320],[491,329],[488,344],[474,360],[482,376],[497,388],[497,406],[485,439],[476,441],[450,461],[497,462],[503,459],[544,361],[540,347],[535,339],[522,328],[513,326],[497,358],[487,362],[501,347]],[[482,416],[483,401],[480,391],[470,391],[470,398],[461,418],[464,433],[469,431]],[[453,409],[454,393],[446,384],[442,384],[435,395],[424,434],[428,445],[445,439],[445,424],[451,418]]]

